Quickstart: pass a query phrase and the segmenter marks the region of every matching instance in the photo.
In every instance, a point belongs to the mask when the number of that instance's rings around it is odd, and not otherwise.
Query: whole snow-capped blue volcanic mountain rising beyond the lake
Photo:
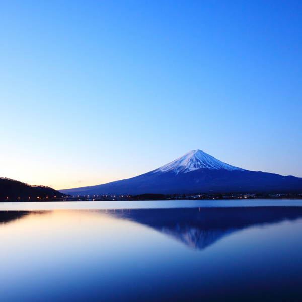
[[[156,170],[107,184],[59,190],[71,195],[302,192],[302,178],[249,171],[193,150]]]

